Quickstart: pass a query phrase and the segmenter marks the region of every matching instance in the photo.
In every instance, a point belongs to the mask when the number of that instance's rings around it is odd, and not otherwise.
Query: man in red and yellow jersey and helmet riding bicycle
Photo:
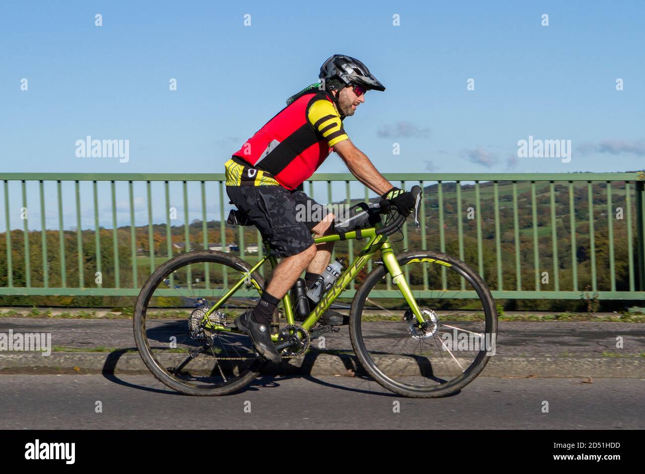
[[[333,233],[333,214],[319,220],[320,213],[312,212],[305,221],[297,219],[297,206],[320,206],[297,188],[333,151],[361,183],[389,199],[402,215],[410,214],[415,205],[412,194],[382,177],[342,126],[344,118],[365,102],[368,90],[384,91],[384,86],[361,61],[340,54],[324,62],[319,78],[321,83],[290,97],[287,106],[224,165],[231,203],[270,243],[272,255],[281,259],[257,306],[235,320],[251,337],[255,349],[272,362],[281,360],[269,330],[273,311],[303,270],[306,286],[311,288],[332,255],[333,242],[315,245],[312,233],[315,237]],[[310,308],[315,306],[313,301],[309,303]],[[321,322],[341,326],[347,324],[347,317],[328,310]]]

